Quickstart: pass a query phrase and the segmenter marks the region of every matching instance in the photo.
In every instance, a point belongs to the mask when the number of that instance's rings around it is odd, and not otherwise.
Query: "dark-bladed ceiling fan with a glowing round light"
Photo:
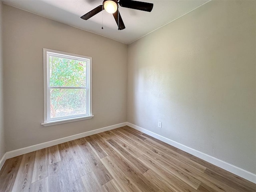
[[[106,12],[113,14],[116,24],[118,26],[118,30],[125,29],[124,22],[122,20],[122,17],[118,11],[118,4],[121,7],[126,7],[130,9],[137,9],[142,11],[151,12],[153,9],[152,3],[147,2],[140,2],[140,1],[134,1],[134,0],[104,0],[102,5],[94,8],[93,10],[89,11],[88,13],[84,14],[81,18],[84,20],[88,20],[92,16],[98,14],[102,10],[106,10]]]

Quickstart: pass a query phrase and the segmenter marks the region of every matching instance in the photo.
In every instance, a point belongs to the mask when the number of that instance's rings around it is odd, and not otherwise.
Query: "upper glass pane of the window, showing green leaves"
[[[50,86],[86,86],[86,62],[49,56]]]

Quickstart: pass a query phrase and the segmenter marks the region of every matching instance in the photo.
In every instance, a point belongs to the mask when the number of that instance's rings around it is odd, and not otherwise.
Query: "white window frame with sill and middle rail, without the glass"
[[[51,50],[43,48],[44,60],[44,122],[43,126],[50,126],[66,122],[73,122],[78,120],[90,119],[92,115],[92,58],[78,54],[71,54],[67,52]],[[53,87],[50,86],[50,67],[49,56],[59,56],[61,58],[68,58],[72,60],[86,61],[86,87]],[[65,116],[59,118],[50,118],[50,89],[51,88],[84,88],[86,89],[86,109],[87,114]]]

